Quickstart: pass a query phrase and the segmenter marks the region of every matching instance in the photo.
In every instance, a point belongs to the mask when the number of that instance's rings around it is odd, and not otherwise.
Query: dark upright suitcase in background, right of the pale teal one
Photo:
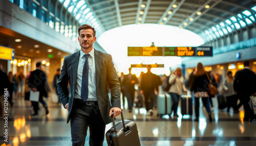
[[[191,95],[181,95],[181,114],[192,115],[192,98]]]

